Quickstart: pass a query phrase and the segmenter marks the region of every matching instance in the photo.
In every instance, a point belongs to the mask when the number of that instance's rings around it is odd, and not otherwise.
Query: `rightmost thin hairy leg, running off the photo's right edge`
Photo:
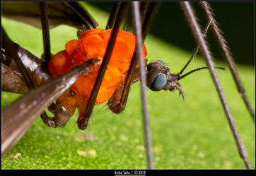
[[[235,80],[236,87],[238,88],[238,92],[240,92],[240,95],[242,96],[243,101],[245,102],[245,105],[247,106],[250,115],[252,116],[252,120],[255,122],[255,111],[253,110],[250,101],[245,94],[245,88],[243,87],[243,83],[241,82],[238,72],[235,68],[235,63],[233,57],[231,56],[231,51],[229,51],[227,42],[221,34],[221,30],[219,29],[216,20],[214,19],[213,10],[211,9],[210,4],[208,4],[206,1],[202,1],[200,2],[200,4],[204,10],[204,13],[206,13],[206,17],[208,18],[208,20],[212,21],[214,34],[216,35],[219,43],[221,44],[221,49],[226,57],[226,60],[228,61],[228,65],[231,69],[231,73],[233,75],[233,79]]]

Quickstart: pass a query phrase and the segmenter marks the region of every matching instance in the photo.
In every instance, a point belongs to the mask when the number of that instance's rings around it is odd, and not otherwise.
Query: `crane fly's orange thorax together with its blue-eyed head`
[[[103,59],[107,42],[110,39],[112,30],[88,30],[81,34],[80,39],[74,39],[66,43],[66,49],[60,51],[58,54],[52,56],[48,68],[52,77],[58,77],[67,73],[75,65],[81,65],[90,58]],[[100,87],[95,105],[104,103],[108,99],[108,106],[114,113],[120,111],[115,110],[116,96],[122,89],[125,77],[129,70],[129,63],[132,60],[132,55],[135,49],[135,37],[129,32],[119,30],[117,34],[117,42],[113,49],[110,63],[107,65],[107,70],[103,83]],[[146,56],[146,46],[143,46],[144,57]],[[57,106],[63,106],[66,111],[69,112],[69,117],[73,115],[76,107],[78,107],[78,127],[80,127],[79,119],[83,118],[84,109],[86,108],[87,101],[91,95],[93,84],[96,79],[97,67],[94,66],[88,71],[88,74],[81,75],[78,80],[70,87],[70,89],[62,94],[57,100]],[[132,83],[138,81],[139,77],[139,65],[137,66],[136,73],[132,79]],[[170,73],[169,68],[161,61],[153,61],[148,65],[148,85],[153,91],[165,90],[174,91],[178,89],[184,99],[184,93],[182,92],[180,75]],[[115,92],[115,93],[114,93]],[[59,111],[55,112],[54,118],[49,118],[52,127],[62,126],[66,123],[69,118],[63,118],[63,114]],[[86,125],[88,124],[86,119]]]

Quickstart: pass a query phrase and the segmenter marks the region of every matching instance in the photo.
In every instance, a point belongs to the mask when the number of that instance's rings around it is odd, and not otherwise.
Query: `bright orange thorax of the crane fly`
[[[103,59],[107,42],[112,30],[94,29],[83,32],[80,39],[73,39],[66,43],[65,50],[52,56],[48,68],[52,77],[59,77],[67,73],[76,65],[84,63],[90,58]],[[104,103],[115,92],[115,89],[124,82],[129,64],[132,60],[136,45],[134,34],[119,30],[115,46],[107,65],[95,104]],[[143,45],[143,54],[146,56],[146,47]],[[88,101],[93,84],[97,77],[100,65],[95,65],[88,70],[87,75],[80,75],[71,89],[79,99]]]

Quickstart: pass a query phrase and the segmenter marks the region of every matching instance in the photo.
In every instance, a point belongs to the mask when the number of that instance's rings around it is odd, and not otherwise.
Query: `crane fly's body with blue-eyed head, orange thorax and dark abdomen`
[[[35,85],[38,87],[41,84],[45,84],[46,82],[52,80],[50,76],[52,76],[52,78],[56,78],[64,75],[64,73],[69,72],[76,65],[81,65],[88,59],[93,58],[98,59],[98,61],[102,61],[111,32],[112,30],[88,30],[83,32],[79,39],[74,39],[67,42],[65,50],[52,56],[50,62],[48,63],[48,70],[50,71],[51,75],[45,71],[44,67],[40,68],[40,65],[44,65],[42,64],[42,60],[36,58],[32,54],[29,54],[29,52],[23,49],[21,46],[18,46],[18,48],[22,51],[21,61],[23,61],[23,64],[25,64],[28,74],[30,77],[33,77]],[[118,103],[120,103],[120,96],[122,96],[124,81],[134,53],[135,42],[136,37],[134,34],[119,30],[114,49],[112,51],[112,56],[110,57],[110,62],[107,65],[107,70],[98,92],[95,105],[99,105],[108,100],[107,105],[113,113],[120,113],[123,111],[123,109],[119,108],[120,106],[118,106]],[[145,45],[143,45],[142,51],[145,58]],[[2,54],[5,54],[4,50]],[[3,56],[8,60],[8,62],[14,62],[13,58],[9,57],[8,55]],[[29,62],[27,62],[27,56],[30,56],[31,58]],[[147,60],[144,59],[144,61],[146,63]],[[40,69],[40,72],[35,74],[34,71],[30,71],[31,64],[28,63],[40,63],[37,64],[37,69]],[[10,69],[16,68],[15,64],[14,66],[11,64],[7,65],[11,67]],[[54,117],[43,119],[45,125],[50,127],[59,127],[66,124],[66,122],[74,114],[76,107],[78,108],[79,113],[78,119],[83,118],[83,113],[91,95],[99,68],[100,62],[91,66],[86,75],[80,75],[78,80],[76,80],[76,82],[66,92],[64,92],[62,96],[59,96],[56,103],[53,103],[49,107],[49,110],[54,113]],[[153,61],[144,69],[147,73],[147,86],[151,90],[159,91],[164,89],[174,91],[175,89],[178,89],[184,98],[181,85],[178,83],[178,80],[180,79],[179,74],[170,73],[169,68],[162,61]],[[5,76],[4,78],[7,77]],[[137,64],[131,84],[134,84],[134,82],[139,80],[139,64]],[[10,87],[10,85],[12,85],[14,82],[10,82],[9,79],[4,79],[3,81],[8,83],[6,91],[24,94],[23,89],[25,83],[22,79],[21,82],[23,84],[19,85],[18,87]],[[28,87],[25,88],[28,91]],[[89,119],[86,120],[88,121]]]

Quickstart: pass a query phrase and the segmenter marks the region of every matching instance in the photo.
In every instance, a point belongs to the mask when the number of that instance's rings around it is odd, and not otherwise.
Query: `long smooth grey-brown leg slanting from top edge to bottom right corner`
[[[218,79],[218,77],[215,73],[215,70],[214,70],[214,63],[211,61],[211,54],[209,52],[208,46],[206,45],[206,42],[205,42],[204,37],[202,35],[202,32],[199,28],[197,20],[194,16],[194,11],[192,10],[192,7],[190,6],[190,3],[188,1],[180,2],[180,5],[182,6],[182,10],[185,13],[186,19],[187,20],[190,19],[190,20],[188,20],[188,23],[190,24],[192,33],[194,34],[194,37],[197,40],[197,43],[200,45],[200,48],[202,49],[204,59],[205,59],[206,64],[209,68],[209,71],[211,73],[211,77],[214,81],[216,90],[219,94],[219,98],[221,100],[222,106],[223,106],[224,111],[226,113],[226,117],[228,118],[228,123],[231,127],[231,131],[233,133],[233,137],[235,138],[236,145],[238,146],[238,151],[239,151],[240,157],[243,158],[243,161],[246,165],[246,168],[251,169],[252,167],[251,167],[250,163],[248,162],[247,152],[245,150],[245,147],[243,145],[242,140],[240,139],[240,136],[238,134],[238,130],[235,126],[235,122],[233,121],[231,112],[228,108],[226,98],[225,98],[225,96],[223,94],[223,90],[221,88],[221,84],[219,84],[219,79]]]

